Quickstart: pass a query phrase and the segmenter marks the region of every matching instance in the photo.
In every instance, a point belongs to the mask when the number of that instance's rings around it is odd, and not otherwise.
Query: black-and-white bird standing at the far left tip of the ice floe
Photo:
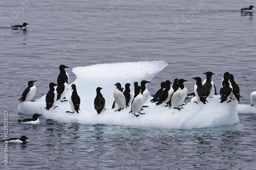
[[[36,82],[36,80],[28,82],[28,87],[23,91],[22,97],[18,99],[20,102],[31,101],[31,99],[34,98],[36,92],[34,82]]]

